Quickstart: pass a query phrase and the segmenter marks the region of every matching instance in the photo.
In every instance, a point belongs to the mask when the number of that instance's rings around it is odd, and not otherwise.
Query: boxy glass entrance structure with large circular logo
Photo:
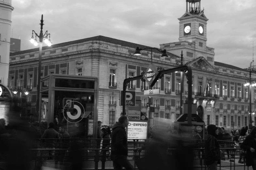
[[[54,122],[71,137],[96,137],[98,79],[88,76],[50,74],[41,79],[40,123]],[[93,126],[94,125],[94,126]]]

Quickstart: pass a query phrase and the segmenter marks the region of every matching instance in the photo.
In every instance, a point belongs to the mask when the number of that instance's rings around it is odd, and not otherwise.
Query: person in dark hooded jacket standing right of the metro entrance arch
[[[204,156],[208,170],[217,170],[220,164],[220,149],[217,141],[218,128],[215,125],[207,126],[208,135],[205,140]]]

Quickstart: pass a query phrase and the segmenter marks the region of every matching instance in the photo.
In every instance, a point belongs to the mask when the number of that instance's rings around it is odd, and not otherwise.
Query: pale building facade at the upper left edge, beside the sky
[[[11,0],[0,1],[0,83],[8,85],[10,37],[11,37]]]

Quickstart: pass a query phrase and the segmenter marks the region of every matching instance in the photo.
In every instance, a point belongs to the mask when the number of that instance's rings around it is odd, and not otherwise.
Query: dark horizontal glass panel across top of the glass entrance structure
[[[94,81],[55,79],[55,87],[94,89]]]

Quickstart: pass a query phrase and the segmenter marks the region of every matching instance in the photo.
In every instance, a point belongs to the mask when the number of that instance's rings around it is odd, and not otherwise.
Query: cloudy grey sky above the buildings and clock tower
[[[102,35],[159,48],[178,41],[177,18],[186,10],[185,0],[12,0],[12,6],[13,38],[20,37],[22,50],[35,48],[28,40],[32,30],[40,32],[41,14],[54,44]],[[201,7],[215,61],[247,68],[256,40],[256,1],[201,0]]]

